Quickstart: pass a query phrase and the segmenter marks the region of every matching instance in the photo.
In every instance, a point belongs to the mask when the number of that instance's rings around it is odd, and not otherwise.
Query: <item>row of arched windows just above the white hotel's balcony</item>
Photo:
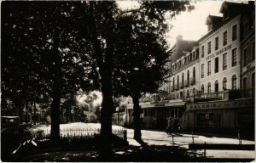
[[[226,77],[224,77],[222,83],[223,83],[223,90],[226,90],[227,89],[227,78]],[[233,75],[231,78],[231,89],[237,88],[236,83],[237,83],[236,75]],[[205,87],[202,84],[201,85],[201,93],[204,93],[204,92],[205,92]],[[214,92],[218,92],[218,80],[216,80],[214,83]],[[211,93],[211,82],[208,82],[208,84],[207,84],[207,93]]]

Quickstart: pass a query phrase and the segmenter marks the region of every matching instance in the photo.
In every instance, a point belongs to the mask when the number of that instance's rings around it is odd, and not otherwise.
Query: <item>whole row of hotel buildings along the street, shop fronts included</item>
[[[251,2],[224,2],[223,17],[207,17],[204,37],[177,37],[162,93],[140,103],[145,127],[163,128],[167,117],[177,116],[184,129],[254,133],[254,9]],[[131,121],[132,104],[127,108]]]

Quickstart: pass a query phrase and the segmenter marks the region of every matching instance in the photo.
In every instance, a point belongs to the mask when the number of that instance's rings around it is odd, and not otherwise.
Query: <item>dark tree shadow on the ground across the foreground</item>
[[[113,149],[110,160],[101,160],[97,149],[79,149],[73,151],[44,152],[15,158],[13,161],[36,162],[247,162],[251,160],[204,158],[195,151],[178,146],[143,145],[119,147]]]

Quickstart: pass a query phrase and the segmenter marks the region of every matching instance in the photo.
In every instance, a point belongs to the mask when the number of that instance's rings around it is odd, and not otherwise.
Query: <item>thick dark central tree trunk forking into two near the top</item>
[[[113,114],[113,2],[104,2],[108,12],[105,14],[108,20],[107,27],[107,50],[105,57],[102,52],[101,42],[96,32],[96,18],[94,16],[95,2],[90,1],[89,8],[89,32],[90,42],[94,48],[96,64],[102,77],[102,110],[101,110],[101,158],[104,161],[112,159],[113,150],[111,147],[112,137],[112,114]],[[105,58],[105,60],[104,60]]]

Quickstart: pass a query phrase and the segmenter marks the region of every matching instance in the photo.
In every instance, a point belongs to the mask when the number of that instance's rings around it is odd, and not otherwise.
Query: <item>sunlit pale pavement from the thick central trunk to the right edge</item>
[[[177,146],[179,148],[183,148],[188,150],[188,152],[195,152],[196,156],[201,156],[203,154],[203,150],[189,150],[189,143],[192,143],[192,135],[191,134],[183,134],[181,137],[174,137],[174,144],[172,144],[172,136],[167,135],[166,132],[156,132],[156,131],[147,131],[142,130],[142,138],[145,143],[148,145],[166,145],[166,146]],[[201,135],[195,135],[194,143],[230,143],[230,144],[238,144],[239,140],[236,138],[221,138],[221,137],[205,137]],[[129,144],[139,146],[133,137],[133,130],[127,129],[127,137]],[[255,144],[255,141],[251,140],[241,140],[242,144]],[[247,150],[207,150],[208,158],[226,158],[226,159],[247,159],[247,158],[255,158],[255,151],[247,151]]]

